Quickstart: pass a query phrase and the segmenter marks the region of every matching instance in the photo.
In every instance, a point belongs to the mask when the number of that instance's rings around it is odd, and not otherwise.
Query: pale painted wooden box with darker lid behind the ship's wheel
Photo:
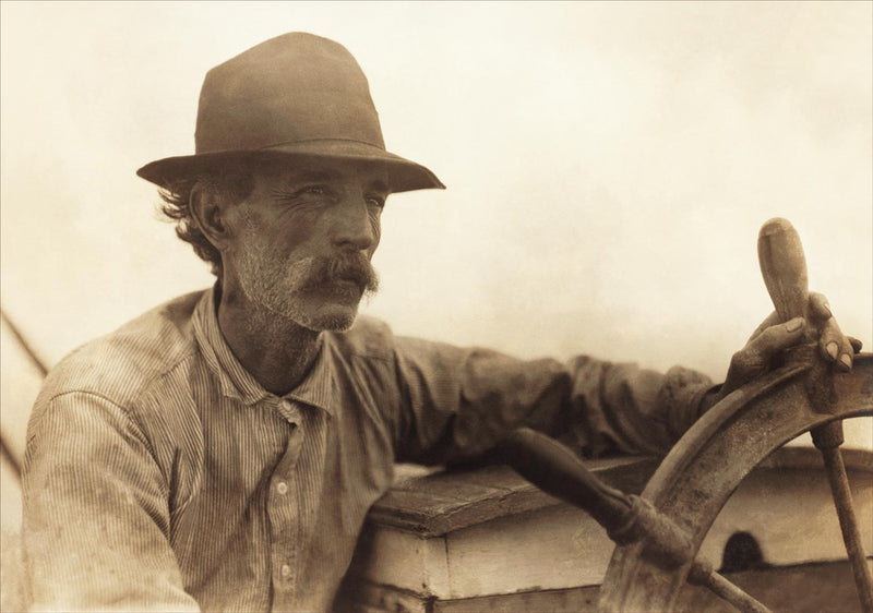
[[[642,486],[654,470],[653,462],[631,458],[590,464],[617,485]],[[873,454],[848,450],[846,464],[864,546],[873,552]],[[373,508],[344,598],[409,611],[464,610],[461,603],[473,611],[488,602],[517,611],[540,610],[534,602],[584,610],[591,596],[583,588],[602,581],[612,543],[584,512],[537,496],[504,467],[402,480]],[[728,540],[739,532],[757,543],[762,566],[846,558],[815,449],[784,448],[765,460],[725,506],[702,555],[722,566]],[[531,596],[539,593],[551,596]]]

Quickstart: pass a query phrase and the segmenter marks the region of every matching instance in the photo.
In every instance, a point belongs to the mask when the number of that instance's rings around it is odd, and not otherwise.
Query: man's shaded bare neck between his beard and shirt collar
[[[253,304],[239,288],[222,291],[218,327],[240,364],[277,396],[303,381],[319,353],[321,333]]]

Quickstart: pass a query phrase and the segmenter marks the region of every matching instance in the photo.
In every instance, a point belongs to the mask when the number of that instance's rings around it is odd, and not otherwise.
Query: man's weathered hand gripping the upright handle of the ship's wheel
[[[720,400],[766,373],[775,357],[803,342],[817,344],[826,362],[839,372],[849,372],[852,368],[852,356],[861,350],[861,341],[842,334],[823,295],[810,292],[808,313],[808,320],[796,317],[780,323],[776,312],[764,320],[745,347],[733,354],[728,376],[714,400]]]

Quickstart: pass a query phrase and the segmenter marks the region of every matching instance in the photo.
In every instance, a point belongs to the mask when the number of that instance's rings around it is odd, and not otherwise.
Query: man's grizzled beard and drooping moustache
[[[315,332],[350,328],[361,299],[379,289],[379,276],[361,252],[286,261],[256,243],[238,262],[249,300]]]

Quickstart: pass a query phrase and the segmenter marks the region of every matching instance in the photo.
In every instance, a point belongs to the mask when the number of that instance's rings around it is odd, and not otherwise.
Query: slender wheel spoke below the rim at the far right
[[[846,553],[852,566],[861,606],[864,613],[873,613],[873,577],[871,577],[870,567],[866,564],[861,532],[858,529],[858,519],[852,506],[849,479],[846,476],[846,465],[842,462],[842,454],[839,450],[839,446],[842,444],[842,422],[833,421],[814,429],[812,440],[822,452],[822,458],[825,461],[825,471],[830,483],[834,506],[837,508],[839,527],[842,531],[842,542],[846,543]]]

